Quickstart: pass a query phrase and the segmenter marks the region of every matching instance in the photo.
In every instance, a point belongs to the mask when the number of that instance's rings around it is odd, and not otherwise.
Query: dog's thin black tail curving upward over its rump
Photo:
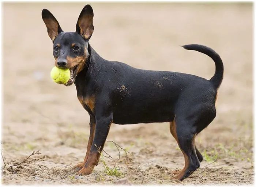
[[[211,59],[215,62],[215,73],[214,73],[214,76],[211,77],[210,82],[212,83],[215,89],[218,89],[222,83],[223,74],[224,74],[223,63],[218,53],[215,52],[210,47],[199,45],[199,44],[188,44],[188,45],[183,45],[181,47],[187,50],[198,51],[211,57]]]

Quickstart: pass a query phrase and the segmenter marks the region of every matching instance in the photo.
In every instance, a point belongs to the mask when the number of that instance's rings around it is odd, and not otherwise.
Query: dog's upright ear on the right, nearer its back
[[[82,35],[85,39],[90,39],[93,34],[93,8],[87,4],[82,9],[76,23],[76,32]]]

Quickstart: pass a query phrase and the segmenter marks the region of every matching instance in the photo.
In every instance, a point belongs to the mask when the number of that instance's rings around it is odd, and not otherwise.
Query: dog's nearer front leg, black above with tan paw
[[[87,162],[78,174],[89,175],[93,172],[94,166],[98,165],[101,151],[103,150],[112,122],[113,115],[108,117],[96,117],[93,144],[91,146]]]

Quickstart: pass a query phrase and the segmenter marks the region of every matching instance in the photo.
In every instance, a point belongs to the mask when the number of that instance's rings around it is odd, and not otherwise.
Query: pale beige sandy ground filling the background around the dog
[[[3,4],[3,106],[1,147],[5,163],[21,162],[32,151],[40,158],[25,166],[7,165],[4,184],[177,184],[170,171],[184,157],[169,123],[113,124],[107,152],[121,176],[109,176],[103,160],[93,174],[74,176],[71,167],[84,158],[89,115],[76,98],[75,85],[53,83],[52,42],[41,19],[49,9],[64,31],[74,31],[85,3]],[[252,4],[95,4],[90,44],[105,59],[133,67],[210,77],[215,66],[206,55],[179,45],[199,43],[222,57],[225,76],[219,89],[217,117],[196,145],[204,160],[181,184],[252,184]],[[106,154],[104,154],[106,155]],[[129,154],[128,154],[129,155]],[[106,164],[114,162],[103,157]],[[1,160],[2,162],[2,160]],[[3,164],[3,162],[2,162]]]

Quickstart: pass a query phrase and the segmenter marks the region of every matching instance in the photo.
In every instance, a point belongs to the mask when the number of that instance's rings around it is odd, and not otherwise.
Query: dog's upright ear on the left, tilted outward
[[[59,33],[63,32],[56,18],[47,9],[42,10],[42,19],[44,20],[48,35],[52,41],[58,36]]]

